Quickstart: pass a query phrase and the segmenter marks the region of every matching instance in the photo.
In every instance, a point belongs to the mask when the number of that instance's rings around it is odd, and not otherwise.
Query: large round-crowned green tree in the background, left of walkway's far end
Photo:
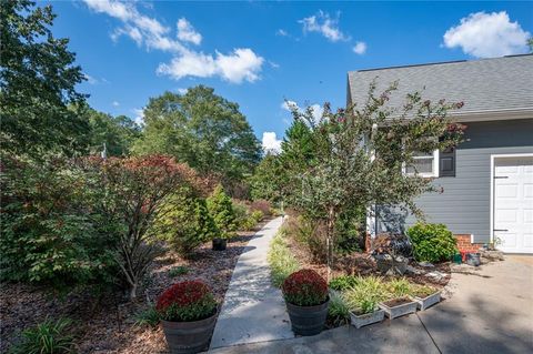
[[[180,95],[165,92],[144,109],[140,154],[165,153],[200,174],[218,174],[224,183],[242,180],[260,161],[261,145],[239,104],[198,85]]]

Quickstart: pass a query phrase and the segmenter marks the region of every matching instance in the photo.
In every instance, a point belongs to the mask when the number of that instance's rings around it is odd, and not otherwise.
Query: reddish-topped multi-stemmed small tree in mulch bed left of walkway
[[[187,164],[165,155],[84,159],[91,173],[94,192],[94,218],[104,218],[107,229],[120,241],[115,261],[130,299],[149,266],[159,254],[154,242],[154,219],[161,216],[161,205],[178,189],[188,185],[202,189],[202,180]]]

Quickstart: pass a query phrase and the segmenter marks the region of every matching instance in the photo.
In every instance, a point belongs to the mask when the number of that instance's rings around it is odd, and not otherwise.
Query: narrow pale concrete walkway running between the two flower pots
[[[276,218],[264,225],[239,257],[210,348],[294,337],[281,291],[270,284],[266,261],[281,223]]]

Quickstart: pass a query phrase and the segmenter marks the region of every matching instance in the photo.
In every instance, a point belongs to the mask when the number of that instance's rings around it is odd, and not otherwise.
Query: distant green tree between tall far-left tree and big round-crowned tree
[[[125,156],[133,142],[140,138],[140,127],[125,115],[112,117],[87,108],[83,114],[90,124],[89,151],[100,152],[105,144],[108,155]]]

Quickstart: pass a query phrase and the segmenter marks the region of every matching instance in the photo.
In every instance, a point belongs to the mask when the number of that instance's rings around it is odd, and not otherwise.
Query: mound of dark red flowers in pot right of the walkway
[[[283,282],[285,301],[298,306],[314,306],[328,299],[328,283],[313,270],[301,270]]]

